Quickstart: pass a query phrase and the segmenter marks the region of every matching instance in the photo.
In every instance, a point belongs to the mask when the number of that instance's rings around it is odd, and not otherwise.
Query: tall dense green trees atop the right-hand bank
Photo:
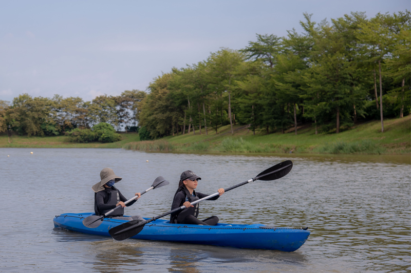
[[[241,50],[222,48],[155,78],[141,102],[147,138],[208,134],[221,125],[283,132],[311,123],[339,133],[359,119],[410,113],[410,13],[353,12],[312,22],[302,33],[257,34]]]

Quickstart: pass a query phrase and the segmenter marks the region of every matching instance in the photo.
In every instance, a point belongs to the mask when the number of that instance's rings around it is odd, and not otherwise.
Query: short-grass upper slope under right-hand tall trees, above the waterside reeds
[[[206,135],[204,129],[199,135],[198,130],[196,135],[190,134],[166,137],[163,138],[174,144],[209,142],[211,150],[213,146],[217,146],[224,138],[242,138],[252,144],[257,145],[278,145],[294,152],[318,152],[324,145],[329,145],[335,142],[357,142],[361,140],[369,140],[379,146],[382,146],[385,153],[410,153],[411,147],[411,116],[404,118],[390,119],[384,121],[384,133],[381,133],[381,122],[371,121],[361,125],[357,125],[351,130],[339,134],[318,134],[315,135],[315,129],[312,127],[305,127],[294,134],[293,129],[286,134],[274,133],[264,134],[247,132],[247,129],[241,129],[234,132],[232,136],[230,133],[230,126],[227,125],[219,130],[216,135],[215,131],[209,131]],[[236,126],[236,128],[240,128]]]

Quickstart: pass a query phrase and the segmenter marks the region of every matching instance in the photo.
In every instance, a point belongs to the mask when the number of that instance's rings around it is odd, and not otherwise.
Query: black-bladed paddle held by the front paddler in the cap
[[[239,183],[235,186],[229,187],[227,189],[225,189],[225,192],[231,191],[236,187],[245,185],[247,183],[251,183],[255,180],[263,180],[263,181],[271,181],[271,180],[276,180],[278,178],[282,178],[283,176],[287,175],[292,169],[292,162],[291,160],[287,160],[284,162],[281,162],[279,164],[276,164],[270,168],[268,168],[267,170],[265,170],[264,172],[259,173],[256,177],[251,178],[250,180],[247,180],[245,182]],[[215,193],[209,196],[206,196],[204,198],[201,198],[197,201],[192,202],[191,204],[194,205],[196,203],[199,203],[203,200],[207,200],[210,199],[214,196],[219,195],[219,193]],[[185,206],[180,206],[177,207],[175,209],[173,209],[172,211],[168,212],[168,213],[164,213],[162,215],[153,217],[150,220],[133,220],[133,221],[129,221],[126,222],[124,224],[115,226],[113,228],[111,228],[110,230],[108,230],[108,233],[110,234],[111,237],[113,237],[114,239],[118,240],[118,241],[122,241],[125,239],[128,239],[130,237],[133,237],[137,234],[139,234],[141,232],[141,230],[143,229],[144,225],[147,223],[150,223],[152,221],[155,221],[161,217],[164,217],[166,215],[178,212],[180,209],[184,209]]]

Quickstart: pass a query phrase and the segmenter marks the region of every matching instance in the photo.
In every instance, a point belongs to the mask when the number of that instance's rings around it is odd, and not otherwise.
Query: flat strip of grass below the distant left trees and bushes
[[[18,136],[13,135],[8,142],[7,134],[0,135],[0,148],[122,148],[125,143],[140,141],[136,133],[120,133],[122,140],[114,143],[73,143],[68,136]]]

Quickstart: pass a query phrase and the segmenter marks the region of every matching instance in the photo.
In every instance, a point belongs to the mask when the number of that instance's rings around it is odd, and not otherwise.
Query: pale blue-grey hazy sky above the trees
[[[117,96],[154,78],[241,49],[258,34],[302,32],[350,12],[410,10],[409,0],[0,0],[0,100]]]

